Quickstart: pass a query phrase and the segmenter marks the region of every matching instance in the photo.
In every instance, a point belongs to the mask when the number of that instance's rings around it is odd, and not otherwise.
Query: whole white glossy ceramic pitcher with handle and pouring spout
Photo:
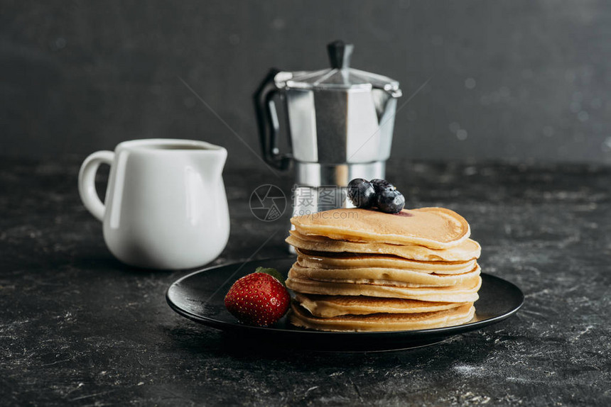
[[[79,173],[85,207],[103,222],[104,241],[126,264],[186,269],[214,260],[227,245],[222,180],[227,150],[195,140],[145,139],[87,157]],[[110,165],[105,204],[94,179]]]

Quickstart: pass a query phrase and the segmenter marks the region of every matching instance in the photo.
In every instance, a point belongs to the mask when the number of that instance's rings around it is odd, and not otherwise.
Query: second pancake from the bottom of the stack
[[[296,295],[295,299],[303,308],[318,318],[331,318],[347,314],[434,312],[457,308],[466,304],[381,299],[366,296],[317,296],[300,293]]]

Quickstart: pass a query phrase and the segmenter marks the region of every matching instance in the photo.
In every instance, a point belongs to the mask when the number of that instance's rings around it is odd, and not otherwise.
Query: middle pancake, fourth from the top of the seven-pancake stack
[[[367,267],[362,269],[320,269],[303,267],[300,258],[291,267],[289,277],[318,281],[335,281],[355,284],[384,284],[389,286],[455,286],[473,281],[480,275],[480,266],[463,274],[427,274],[411,270]]]

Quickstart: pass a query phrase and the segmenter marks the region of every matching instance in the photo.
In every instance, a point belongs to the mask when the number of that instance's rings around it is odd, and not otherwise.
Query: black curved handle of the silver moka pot
[[[274,77],[279,72],[279,69],[270,69],[259,88],[254,92],[254,111],[256,122],[259,125],[259,138],[261,138],[261,150],[265,162],[277,169],[288,169],[291,165],[291,155],[281,154],[279,150],[280,125],[274,104],[274,95],[279,90],[274,82]]]

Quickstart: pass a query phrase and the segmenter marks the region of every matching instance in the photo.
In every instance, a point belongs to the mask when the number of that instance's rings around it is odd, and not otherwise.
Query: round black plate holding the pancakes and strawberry
[[[283,348],[303,348],[332,352],[376,352],[409,349],[440,342],[450,336],[476,330],[512,316],[524,302],[522,291],[504,279],[482,273],[480,299],[475,317],[463,325],[424,330],[393,332],[324,332],[297,328],[286,316],[269,327],[239,323],[225,308],[223,300],[234,281],[259,266],[274,267],[284,276],[295,257],[258,260],[210,267],[175,281],[166,292],[171,308],[181,316],[224,330],[228,340],[239,338],[276,343]]]

